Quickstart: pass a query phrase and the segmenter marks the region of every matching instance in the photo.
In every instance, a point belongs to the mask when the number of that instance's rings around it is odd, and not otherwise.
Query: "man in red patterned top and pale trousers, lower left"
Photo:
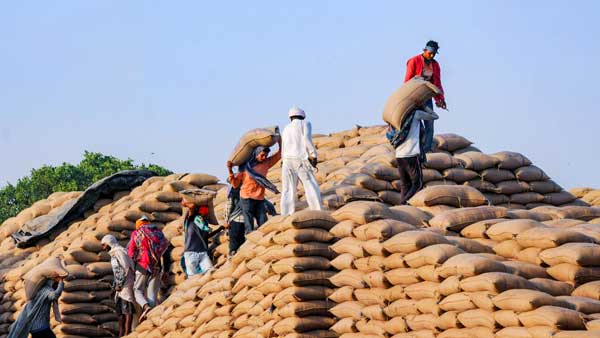
[[[136,303],[142,307],[141,322],[150,309],[158,303],[164,265],[163,255],[169,246],[169,241],[146,216],[142,216],[135,222],[135,228],[127,246],[127,254],[135,265],[133,292]]]

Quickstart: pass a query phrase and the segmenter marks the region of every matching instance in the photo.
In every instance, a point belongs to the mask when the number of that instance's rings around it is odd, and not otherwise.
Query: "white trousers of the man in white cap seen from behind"
[[[298,179],[304,186],[304,196],[311,210],[322,210],[321,191],[315,178],[313,167],[307,160],[284,159],[281,167],[281,214],[290,215],[296,211],[298,199]]]

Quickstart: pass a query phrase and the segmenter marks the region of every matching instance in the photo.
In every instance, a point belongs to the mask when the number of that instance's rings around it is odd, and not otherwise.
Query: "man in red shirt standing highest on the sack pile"
[[[446,100],[444,99],[444,88],[442,88],[442,80],[440,77],[440,64],[434,60],[439,49],[438,43],[430,40],[425,45],[423,53],[414,56],[406,63],[406,76],[404,82],[409,81],[415,76],[420,76],[425,80],[433,83],[442,93],[436,97],[435,105],[439,108],[446,109]],[[427,101],[425,105],[433,110],[433,102]],[[433,120],[423,121],[425,124],[425,144],[424,152],[430,152],[433,147]]]

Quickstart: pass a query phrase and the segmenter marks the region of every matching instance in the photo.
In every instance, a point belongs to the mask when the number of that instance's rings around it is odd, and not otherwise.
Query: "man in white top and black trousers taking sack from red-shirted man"
[[[394,188],[402,195],[401,204],[405,204],[423,186],[420,157],[422,150],[421,129],[424,129],[424,127],[421,121],[433,121],[439,118],[429,107],[425,107],[425,110],[416,110],[413,113],[408,135],[404,142],[396,147],[396,162],[398,163],[400,179],[398,180],[399,184],[394,184]]]

